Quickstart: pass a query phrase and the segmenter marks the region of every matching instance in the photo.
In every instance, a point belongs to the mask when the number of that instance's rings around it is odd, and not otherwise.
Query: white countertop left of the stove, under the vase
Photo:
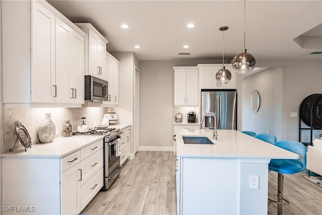
[[[54,138],[47,144],[34,144],[31,148],[14,150],[1,154],[1,157],[22,157],[22,158],[62,158],[77,150],[80,150],[93,142],[102,140],[103,135],[74,135],[70,137]],[[17,142],[20,144],[20,142]]]

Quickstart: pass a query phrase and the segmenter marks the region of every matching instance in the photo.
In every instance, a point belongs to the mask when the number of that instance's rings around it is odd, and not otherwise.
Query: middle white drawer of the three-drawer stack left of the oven
[[[85,184],[99,169],[103,167],[103,149],[81,162],[81,186]]]

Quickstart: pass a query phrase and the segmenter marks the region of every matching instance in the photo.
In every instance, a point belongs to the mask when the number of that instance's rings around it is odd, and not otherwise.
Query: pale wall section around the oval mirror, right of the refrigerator
[[[272,133],[282,139],[282,82],[283,67],[269,68],[243,79],[242,129],[256,133]],[[251,94],[260,94],[260,109],[253,112]]]

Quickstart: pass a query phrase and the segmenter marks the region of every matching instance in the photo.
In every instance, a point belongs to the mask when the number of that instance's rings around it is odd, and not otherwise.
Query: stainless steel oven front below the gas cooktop
[[[116,181],[117,177],[121,173],[120,156],[117,155],[117,146],[120,137],[117,137],[111,141],[104,141],[104,151],[105,151],[105,189],[110,188],[110,186]]]

